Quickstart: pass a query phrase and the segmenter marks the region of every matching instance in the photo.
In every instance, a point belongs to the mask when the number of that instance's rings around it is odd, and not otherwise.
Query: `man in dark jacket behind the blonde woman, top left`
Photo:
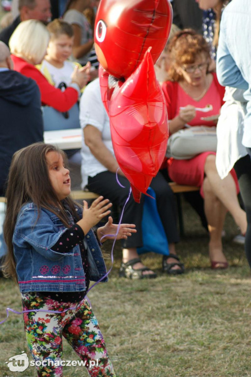
[[[13,31],[20,22],[33,19],[47,25],[52,17],[50,0],[19,0],[19,12],[19,16],[15,18],[12,24],[0,32],[0,41],[7,46]]]

